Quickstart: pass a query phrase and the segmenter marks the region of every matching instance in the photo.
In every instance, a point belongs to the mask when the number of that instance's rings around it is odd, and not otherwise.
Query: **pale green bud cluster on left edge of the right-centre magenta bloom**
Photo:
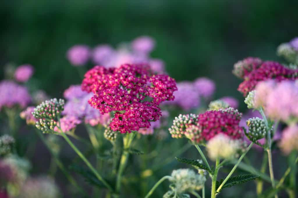
[[[180,114],[178,117],[175,117],[173,120],[173,125],[169,128],[170,134],[173,138],[182,138],[186,129],[190,125],[194,125],[197,121],[198,116],[195,114]]]

